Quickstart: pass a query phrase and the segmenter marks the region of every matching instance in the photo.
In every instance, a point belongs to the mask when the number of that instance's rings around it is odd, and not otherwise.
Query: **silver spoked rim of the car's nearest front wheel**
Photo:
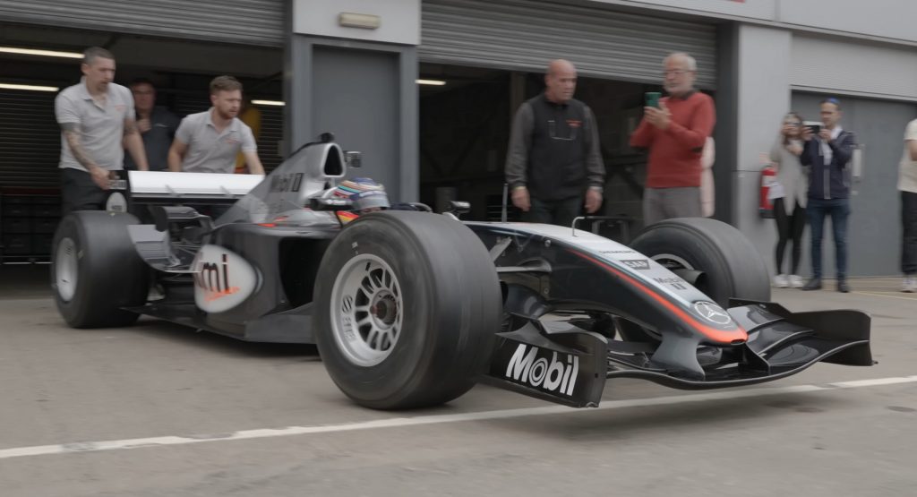
[[[403,323],[398,278],[384,260],[361,254],[348,260],[331,290],[331,327],[337,348],[370,367],[392,354]]]

